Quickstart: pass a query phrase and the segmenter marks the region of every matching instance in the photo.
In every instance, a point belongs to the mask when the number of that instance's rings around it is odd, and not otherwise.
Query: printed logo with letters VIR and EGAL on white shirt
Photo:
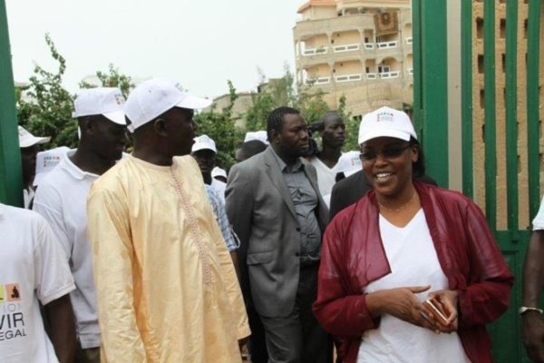
[[[21,300],[18,283],[0,285],[0,342],[26,337]]]

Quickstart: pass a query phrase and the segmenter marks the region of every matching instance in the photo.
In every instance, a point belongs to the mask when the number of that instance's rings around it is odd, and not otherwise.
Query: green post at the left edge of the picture
[[[23,206],[23,174],[5,0],[0,0],[0,201]]]

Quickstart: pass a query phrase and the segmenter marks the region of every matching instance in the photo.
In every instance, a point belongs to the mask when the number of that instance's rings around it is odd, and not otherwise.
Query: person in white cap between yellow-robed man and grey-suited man
[[[204,182],[218,191],[221,201],[225,203],[225,189],[227,188],[227,184],[211,176],[211,171],[215,168],[216,156],[218,154],[218,149],[213,139],[208,135],[195,137],[195,143],[192,145],[190,154],[199,164]]]

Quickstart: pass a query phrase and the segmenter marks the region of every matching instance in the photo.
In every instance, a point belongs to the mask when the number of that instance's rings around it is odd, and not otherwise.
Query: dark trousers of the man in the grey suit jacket
[[[332,344],[312,313],[318,265],[300,269],[295,307],[287,317],[260,317],[265,327],[268,363],[331,363]]]

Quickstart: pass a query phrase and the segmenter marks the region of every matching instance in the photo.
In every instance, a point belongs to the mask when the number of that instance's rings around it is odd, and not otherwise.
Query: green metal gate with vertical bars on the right
[[[497,362],[529,362],[517,309],[544,180],[542,19],[541,0],[413,0],[414,123],[429,174],[444,187],[459,178],[516,276],[509,311],[489,327]]]

